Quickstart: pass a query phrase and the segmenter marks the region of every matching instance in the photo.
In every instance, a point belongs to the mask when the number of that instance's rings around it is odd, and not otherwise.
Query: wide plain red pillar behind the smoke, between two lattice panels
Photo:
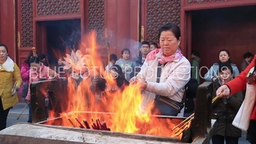
[[[110,53],[121,57],[121,51],[128,48],[131,58],[138,55],[139,0],[106,1],[106,28],[110,41]]]

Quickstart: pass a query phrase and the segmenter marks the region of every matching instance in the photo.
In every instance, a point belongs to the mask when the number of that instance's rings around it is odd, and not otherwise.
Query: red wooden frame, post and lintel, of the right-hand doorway
[[[181,43],[180,46],[184,47],[185,51],[182,51],[184,56],[191,60],[192,51],[192,17],[191,11],[195,10],[207,10],[214,8],[229,8],[235,6],[250,6],[256,5],[254,0],[243,0],[243,1],[221,1],[216,3],[198,3],[188,4],[187,0],[181,0],[180,4],[180,31],[181,31]]]

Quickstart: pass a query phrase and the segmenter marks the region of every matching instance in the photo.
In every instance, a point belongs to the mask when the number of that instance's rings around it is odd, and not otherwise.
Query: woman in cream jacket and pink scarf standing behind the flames
[[[153,110],[150,109],[154,115],[177,116],[183,107],[182,97],[185,85],[190,79],[191,66],[179,49],[180,29],[178,26],[173,23],[162,26],[159,29],[159,41],[161,49],[156,49],[147,55],[140,73],[132,77],[130,84],[138,84],[143,89],[142,113],[148,111],[147,108],[150,107],[148,104],[154,101]],[[159,65],[161,65],[161,74],[157,80]],[[170,108],[170,106],[165,107],[166,103],[159,104],[159,100],[163,99],[174,106]]]

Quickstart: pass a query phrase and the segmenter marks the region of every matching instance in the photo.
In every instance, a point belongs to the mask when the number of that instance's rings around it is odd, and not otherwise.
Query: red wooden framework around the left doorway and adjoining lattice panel
[[[15,33],[15,40],[17,40],[17,45],[15,45],[15,51],[18,52],[18,56],[15,56],[17,58],[16,61],[19,61],[19,66],[23,62],[22,60],[26,59],[28,56],[28,52],[31,51],[32,47],[36,47],[38,53],[45,53],[47,52],[47,45],[45,43],[46,40],[46,28],[44,24],[42,24],[42,21],[48,21],[48,20],[65,20],[65,19],[80,19],[81,20],[81,33],[85,33],[88,31],[88,1],[80,1],[80,12],[79,13],[71,13],[71,14],[63,14],[63,15],[38,15],[37,14],[37,1],[32,1],[32,12],[33,12],[33,44],[30,47],[22,47],[22,15],[21,15],[21,0],[13,0],[14,2],[17,2],[15,6],[16,10],[16,29],[14,30]],[[13,1],[10,1],[10,3],[13,3]],[[9,1],[8,1],[9,3]],[[17,34],[17,35],[16,35]],[[81,38],[83,38],[83,35],[81,35]],[[16,44],[16,42],[15,42]],[[16,54],[16,52],[15,52]]]

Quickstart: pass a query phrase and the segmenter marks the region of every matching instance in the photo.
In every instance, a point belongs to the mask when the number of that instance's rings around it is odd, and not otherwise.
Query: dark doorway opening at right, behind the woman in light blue
[[[227,49],[230,60],[240,69],[243,54],[256,53],[255,13],[255,5],[191,12],[192,49],[200,52],[200,67],[218,63],[218,52]],[[203,68],[201,76],[206,72]]]

